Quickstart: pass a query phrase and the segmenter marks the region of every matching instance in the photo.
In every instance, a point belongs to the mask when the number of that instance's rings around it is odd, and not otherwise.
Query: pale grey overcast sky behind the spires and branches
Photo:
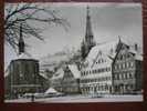
[[[39,59],[56,51],[80,48],[85,36],[86,6],[87,3],[52,4],[52,8],[59,10],[60,16],[65,18],[71,27],[65,31],[62,27],[42,26],[45,27],[42,32],[45,41],[24,39],[31,46],[27,49],[28,52]],[[120,36],[124,41],[143,46],[141,6],[139,3],[90,3],[88,6],[92,30],[97,43],[117,40]],[[11,48],[4,47],[7,65],[15,54]]]

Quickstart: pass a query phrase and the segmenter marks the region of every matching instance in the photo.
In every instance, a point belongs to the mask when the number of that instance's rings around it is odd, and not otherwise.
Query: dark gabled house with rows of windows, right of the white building
[[[116,94],[141,93],[143,56],[137,44],[122,44],[113,63],[113,85]]]

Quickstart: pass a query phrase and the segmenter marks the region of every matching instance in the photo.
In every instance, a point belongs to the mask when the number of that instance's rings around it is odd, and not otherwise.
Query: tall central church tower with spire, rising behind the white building
[[[85,59],[92,49],[92,47],[95,46],[94,41],[94,36],[92,31],[92,24],[91,24],[91,17],[90,17],[90,8],[87,7],[87,12],[86,12],[86,32],[85,32],[85,38],[82,42],[81,47],[81,52],[82,52],[82,58]]]

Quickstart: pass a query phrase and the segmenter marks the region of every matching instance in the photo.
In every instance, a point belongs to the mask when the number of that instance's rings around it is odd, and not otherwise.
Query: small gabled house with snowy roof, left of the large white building
[[[51,79],[51,87],[66,94],[80,93],[80,71],[75,64],[60,68]]]

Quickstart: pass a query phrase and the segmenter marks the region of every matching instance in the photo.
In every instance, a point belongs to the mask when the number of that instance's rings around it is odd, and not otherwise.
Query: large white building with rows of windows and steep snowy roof
[[[118,46],[119,41],[112,41],[92,48],[81,70],[82,93],[112,93],[112,63]]]

